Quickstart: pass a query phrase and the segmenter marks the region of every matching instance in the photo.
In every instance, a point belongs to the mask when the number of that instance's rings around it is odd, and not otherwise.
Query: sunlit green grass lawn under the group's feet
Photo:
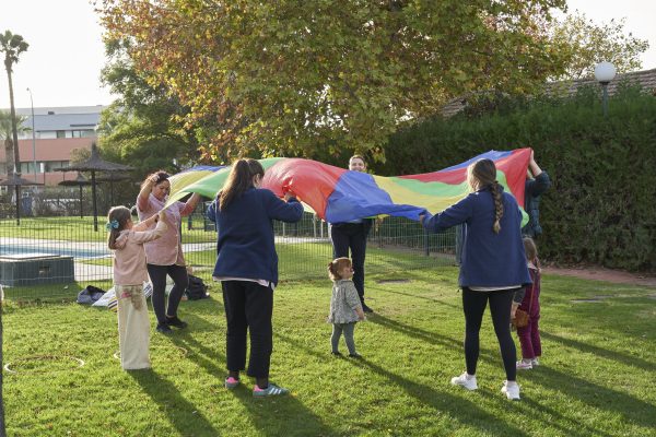
[[[509,402],[499,391],[504,373],[489,312],[479,390],[448,383],[465,366],[456,277],[454,268],[368,275],[376,314],[355,330],[362,361],[329,353],[328,280],[281,283],[271,379],[292,394],[265,400],[253,399],[250,381],[222,387],[215,284],[211,299],[181,304],[185,331],[156,334],[151,314],[153,369],[131,373],[113,357],[114,312],[78,306],[60,286],[49,302],[21,302],[10,290],[4,362],[16,373],[3,374],[8,435],[656,435],[653,288],[544,277],[542,366],[519,374],[523,399]],[[611,297],[572,302],[598,295]]]

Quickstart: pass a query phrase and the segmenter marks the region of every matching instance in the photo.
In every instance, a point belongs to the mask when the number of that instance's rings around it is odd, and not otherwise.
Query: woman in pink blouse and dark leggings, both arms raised
[[[169,190],[171,182],[166,172],[160,170],[148,176],[137,197],[139,218],[143,220],[162,211],[168,199]],[[153,310],[157,317],[157,332],[161,333],[169,333],[171,327],[180,329],[187,327],[187,323],[177,317],[177,307],[183,298],[183,293],[189,285],[183,256],[180,225],[181,217],[191,214],[199,200],[200,196],[194,194],[186,203],[175,202],[167,208],[164,213],[172,232],[143,246],[148,261],[148,274],[153,284]],[[165,303],[166,275],[169,275],[174,282],[173,290],[168,295],[168,305]]]

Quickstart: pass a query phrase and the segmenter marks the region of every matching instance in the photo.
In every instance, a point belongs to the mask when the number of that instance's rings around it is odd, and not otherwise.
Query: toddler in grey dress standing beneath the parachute
[[[353,284],[353,264],[349,258],[337,258],[328,264],[328,275],[332,280],[332,297],[330,298],[330,314],[328,321],[332,323],[332,354],[339,352],[339,339],[343,332],[349,356],[359,358],[355,351],[353,331],[359,320],[364,320],[364,311]]]

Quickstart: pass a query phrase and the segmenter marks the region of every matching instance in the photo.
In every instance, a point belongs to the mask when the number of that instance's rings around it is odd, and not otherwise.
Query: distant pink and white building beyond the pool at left
[[[24,126],[30,128],[19,134],[21,176],[46,185],[74,179],[77,173],[55,169],[67,167],[74,150],[91,150],[104,108],[102,105],[34,108],[34,141],[32,108],[16,108],[16,115],[27,117]],[[0,146],[0,178],[3,175],[7,175],[7,157],[4,146]]]

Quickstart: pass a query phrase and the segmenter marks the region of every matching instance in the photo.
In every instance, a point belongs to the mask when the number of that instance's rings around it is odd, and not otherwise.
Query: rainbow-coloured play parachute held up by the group
[[[312,160],[273,157],[260,160],[262,187],[282,197],[291,191],[307,210],[330,223],[376,215],[419,220],[419,214],[444,211],[467,196],[467,166],[480,158],[494,161],[497,180],[524,205],[530,149],[490,151],[440,172],[384,177],[350,172]],[[197,192],[214,198],[230,167],[198,166],[171,177],[168,203]],[[526,215],[525,215],[526,222]]]

